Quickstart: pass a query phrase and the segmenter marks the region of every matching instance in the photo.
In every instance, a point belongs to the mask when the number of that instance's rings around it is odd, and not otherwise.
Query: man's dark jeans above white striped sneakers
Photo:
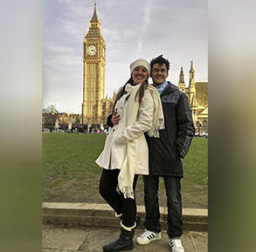
[[[158,203],[159,176],[143,176],[146,219],[144,226],[155,232],[161,231]],[[182,197],[180,178],[163,176],[168,208],[168,231],[170,238],[183,235]]]

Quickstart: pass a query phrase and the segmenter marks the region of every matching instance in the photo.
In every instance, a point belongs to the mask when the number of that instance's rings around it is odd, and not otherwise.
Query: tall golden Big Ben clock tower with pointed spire
[[[96,1],[83,45],[83,124],[100,124],[103,120],[101,102],[104,99],[106,45],[101,36]]]

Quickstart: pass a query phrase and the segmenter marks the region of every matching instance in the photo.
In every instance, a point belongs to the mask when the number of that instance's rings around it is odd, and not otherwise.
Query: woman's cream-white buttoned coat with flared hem
[[[104,169],[121,169],[132,166],[135,174],[149,174],[149,149],[144,133],[152,126],[154,101],[147,88],[137,111],[135,93],[140,85],[127,85],[126,91],[114,107],[121,119],[110,129],[104,150],[96,163]],[[129,147],[128,147],[129,145]],[[129,155],[129,158],[128,158]]]

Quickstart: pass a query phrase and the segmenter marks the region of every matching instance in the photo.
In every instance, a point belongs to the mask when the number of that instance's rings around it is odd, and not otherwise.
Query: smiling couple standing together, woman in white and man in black
[[[161,239],[158,205],[159,177],[163,177],[168,207],[168,235],[172,252],[183,252],[182,160],[194,134],[186,95],[166,81],[170,62],[162,55],[149,62],[136,59],[131,77],[121,87],[107,118],[111,129],[96,163],[103,168],[100,194],[121,219],[119,238],[103,247],[105,252],[134,249],[135,186],[143,175],[145,232],[136,239],[143,245]],[[153,79],[149,85],[148,79]]]

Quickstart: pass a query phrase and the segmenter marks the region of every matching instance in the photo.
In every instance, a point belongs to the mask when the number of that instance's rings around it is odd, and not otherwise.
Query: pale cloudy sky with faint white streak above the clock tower
[[[105,96],[129,78],[136,58],[170,60],[168,80],[177,85],[183,67],[189,83],[191,60],[196,81],[208,80],[207,0],[97,0],[106,44]],[[81,113],[83,39],[94,0],[43,0],[43,106]],[[152,83],[149,78],[149,83]]]

